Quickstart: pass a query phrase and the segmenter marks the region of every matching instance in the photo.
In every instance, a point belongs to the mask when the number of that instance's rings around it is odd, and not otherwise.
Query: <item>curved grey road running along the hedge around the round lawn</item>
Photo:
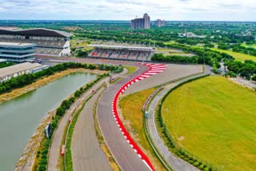
[[[149,126],[150,137],[154,141],[154,145],[158,149],[159,153],[162,154],[162,157],[165,158],[168,165],[170,165],[172,167],[172,169],[174,169],[174,171],[176,171],[176,170],[177,171],[196,171],[198,169],[195,168],[193,165],[186,163],[186,161],[182,161],[180,158],[175,157],[174,154],[168,150],[164,141],[162,141],[161,137],[158,134],[158,130],[157,130],[157,127],[154,122],[154,109],[156,109],[156,107],[158,105],[158,101],[160,101],[162,99],[162,97],[170,89],[172,89],[175,85],[178,85],[181,82],[185,82],[186,80],[191,79],[191,78],[198,78],[205,74],[210,74],[209,66],[206,66],[206,72],[204,74],[198,74],[196,76],[183,79],[179,82],[174,82],[173,84],[166,85],[166,88],[163,89],[160,93],[158,93],[156,95],[156,97],[154,97],[154,99],[150,102],[150,105],[149,105],[149,111],[148,111],[149,117],[148,117],[147,121],[148,121],[148,126]]]

